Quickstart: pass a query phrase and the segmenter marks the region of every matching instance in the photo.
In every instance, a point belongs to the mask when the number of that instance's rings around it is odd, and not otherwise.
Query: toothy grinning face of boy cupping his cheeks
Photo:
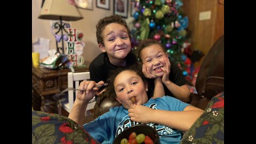
[[[166,67],[164,59],[167,58],[162,47],[158,44],[153,44],[144,47],[140,53],[141,61],[149,69],[150,73],[158,77],[162,77],[164,73],[161,67]]]

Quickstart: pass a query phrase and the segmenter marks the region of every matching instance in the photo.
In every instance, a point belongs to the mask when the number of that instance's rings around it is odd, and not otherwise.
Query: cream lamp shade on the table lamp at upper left
[[[83,19],[77,7],[66,0],[45,0],[39,19],[76,21]]]

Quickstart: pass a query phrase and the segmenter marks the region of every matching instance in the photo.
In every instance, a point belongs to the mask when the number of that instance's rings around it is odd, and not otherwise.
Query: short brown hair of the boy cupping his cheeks
[[[139,43],[139,45],[137,46],[136,52],[135,52],[138,59],[140,60],[140,62],[142,62],[141,61],[141,51],[143,49],[145,49],[145,47],[148,47],[148,46],[154,45],[154,44],[158,44],[159,46],[162,47],[163,51],[166,52],[163,45],[161,43],[159,43],[158,41],[155,41],[154,39],[145,39]]]

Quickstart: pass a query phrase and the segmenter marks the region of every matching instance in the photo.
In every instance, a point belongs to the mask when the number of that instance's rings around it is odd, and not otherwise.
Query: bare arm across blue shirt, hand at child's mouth
[[[180,131],[187,131],[203,114],[202,109],[194,106],[187,106],[183,111],[169,111],[134,105],[128,111],[132,121],[162,124]]]

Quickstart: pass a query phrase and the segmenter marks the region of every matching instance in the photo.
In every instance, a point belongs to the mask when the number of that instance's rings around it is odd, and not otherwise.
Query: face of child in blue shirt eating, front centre
[[[116,100],[119,101],[125,109],[132,105],[143,105],[148,101],[147,84],[133,70],[124,70],[119,73],[114,80],[114,89]],[[133,99],[135,98],[135,102]]]

